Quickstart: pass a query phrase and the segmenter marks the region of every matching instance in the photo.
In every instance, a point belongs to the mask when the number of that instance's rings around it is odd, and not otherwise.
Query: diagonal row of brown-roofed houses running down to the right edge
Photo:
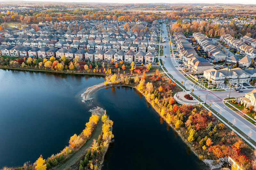
[[[230,48],[236,48],[242,55],[247,55],[251,59],[256,57],[256,49],[245,44],[243,41],[232,37],[230,34],[220,36],[220,40],[225,41]]]

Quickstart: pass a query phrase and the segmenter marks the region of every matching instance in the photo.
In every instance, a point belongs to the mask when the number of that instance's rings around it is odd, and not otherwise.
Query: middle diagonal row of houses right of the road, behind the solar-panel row
[[[215,46],[207,35],[203,33],[193,33],[193,37],[198,42],[198,44],[203,48],[208,56],[216,61],[226,60],[228,55],[225,54],[222,49]]]

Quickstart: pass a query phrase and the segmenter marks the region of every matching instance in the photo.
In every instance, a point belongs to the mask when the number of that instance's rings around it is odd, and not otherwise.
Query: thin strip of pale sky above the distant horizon
[[[25,0],[28,1],[28,0]],[[56,2],[57,0],[32,0],[32,1],[45,1],[45,2]],[[1,2],[1,0],[0,0]],[[84,0],[58,0],[58,2],[99,2],[99,3],[207,3],[207,4],[214,4],[214,3],[225,3],[225,4],[256,4],[256,0],[128,0],[128,1],[120,1],[120,0],[93,0],[93,1],[84,1]]]

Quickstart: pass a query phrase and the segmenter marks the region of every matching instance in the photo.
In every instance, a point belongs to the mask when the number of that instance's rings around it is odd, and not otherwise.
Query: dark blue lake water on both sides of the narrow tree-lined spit
[[[114,121],[103,169],[207,169],[132,88],[80,94],[104,78],[0,69],[0,168],[58,153],[79,134],[94,106]]]

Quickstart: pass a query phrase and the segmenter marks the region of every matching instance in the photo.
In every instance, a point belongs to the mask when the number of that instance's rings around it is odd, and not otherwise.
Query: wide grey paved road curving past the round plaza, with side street
[[[167,28],[165,24],[163,24],[162,29],[163,29],[163,37],[167,37],[168,33],[167,33]],[[229,87],[227,91],[214,92],[214,91],[207,91],[196,86],[194,83],[188,80],[179,70],[177,70],[178,67],[175,67],[175,66],[178,66],[178,63],[174,55],[171,56],[169,42],[163,43],[162,45],[166,46],[166,48],[164,48],[164,55],[166,55],[166,58],[162,57],[162,59],[164,59],[165,61],[164,66],[167,69],[167,71],[179,82],[183,81],[184,82],[183,85],[186,87],[186,89],[188,89],[189,91],[194,89],[194,94],[196,94],[197,96],[200,95],[201,100],[205,101],[206,95],[207,95],[206,103],[207,104],[211,103],[212,105],[211,107],[214,110],[216,110],[218,113],[220,113],[223,117],[225,117],[229,122],[232,122],[233,120],[235,120],[236,123],[234,126],[236,126],[238,129],[243,131],[246,135],[248,135],[248,132],[252,130],[251,138],[254,141],[256,141],[256,126],[253,125],[251,122],[247,121],[246,119],[244,119],[242,116],[238,115],[236,112],[234,112],[230,108],[228,108],[222,102],[223,99],[228,97],[229,92],[230,92],[230,97],[244,96],[244,93],[237,93],[232,89],[230,91]],[[243,89],[243,90],[244,92],[252,91],[252,89]]]

